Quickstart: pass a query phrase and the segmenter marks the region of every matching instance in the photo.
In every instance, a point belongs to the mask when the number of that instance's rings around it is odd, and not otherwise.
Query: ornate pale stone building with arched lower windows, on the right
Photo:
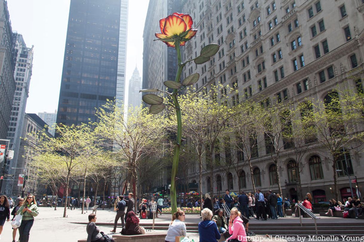
[[[207,44],[221,45],[209,62],[186,65],[183,76],[201,74],[194,86],[197,91],[217,83],[237,85],[239,93],[232,94],[232,104],[269,98],[270,104],[289,100],[296,108],[305,98],[324,100],[333,89],[363,90],[362,0],[329,4],[324,0],[187,0],[183,12],[192,16],[193,27],[198,29],[197,37],[182,48],[184,60],[195,58]],[[214,177],[204,172],[202,191],[208,191],[211,185],[215,194],[225,189],[237,191],[238,187],[252,191],[252,176],[262,191],[278,191],[276,168],[268,148],[260,134],[258,152],[252,159],[253,174],[244,161],[239,161],[237,172],[217,168]],[[328,157],[329,152],[317,142],[303,157],[302,194],[312,193],[315,203],[335,195]],[[294,150],[284,149],[279,159],[283,193],[297,201]],[[351,150],[337,160],[337,167],[351,168],[350,175],[357,176],[358,189],[363,191],[363,156]],[[189,174],[190,180],[198,180],[193,168]],[[337,174],[340,197],[351,196],[348,178],[343,172]]]

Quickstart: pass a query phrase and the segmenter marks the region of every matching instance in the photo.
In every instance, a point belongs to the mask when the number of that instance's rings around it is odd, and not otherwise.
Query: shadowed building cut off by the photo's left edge
[[[15,40],[12,35],[8,5],[0,0],[0,139],[8,134],[8,125],[15,91]]]

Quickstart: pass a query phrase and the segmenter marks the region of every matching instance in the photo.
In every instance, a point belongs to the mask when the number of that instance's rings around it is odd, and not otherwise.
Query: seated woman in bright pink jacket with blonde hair
[[[231,236],[226,240],[226,242],[246,242],[245,227],[240,215],[241,213],[236,207],[232,208],[230,211],[229,234],[231,234]]]

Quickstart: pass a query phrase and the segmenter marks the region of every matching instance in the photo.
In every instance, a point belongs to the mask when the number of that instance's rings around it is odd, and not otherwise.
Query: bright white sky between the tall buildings
[[[70,0],[8,0],[13,32],[34,45],[26,113],[54,113],[58,108]],[[137,65],[143,69],[143,29],[149,0],[129,0],[126,87]],[[127,98],[127,93],[126,97]]]

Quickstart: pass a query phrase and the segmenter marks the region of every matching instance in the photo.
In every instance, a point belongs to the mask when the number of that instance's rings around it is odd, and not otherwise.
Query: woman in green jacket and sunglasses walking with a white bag
[[[16,212],[16,215],[23,215],[19,227],[19,241],[28,242],[29,232],[33,226],[34,217],[39,214],[37,203],[33,194],[27,195],[24,204]]]

